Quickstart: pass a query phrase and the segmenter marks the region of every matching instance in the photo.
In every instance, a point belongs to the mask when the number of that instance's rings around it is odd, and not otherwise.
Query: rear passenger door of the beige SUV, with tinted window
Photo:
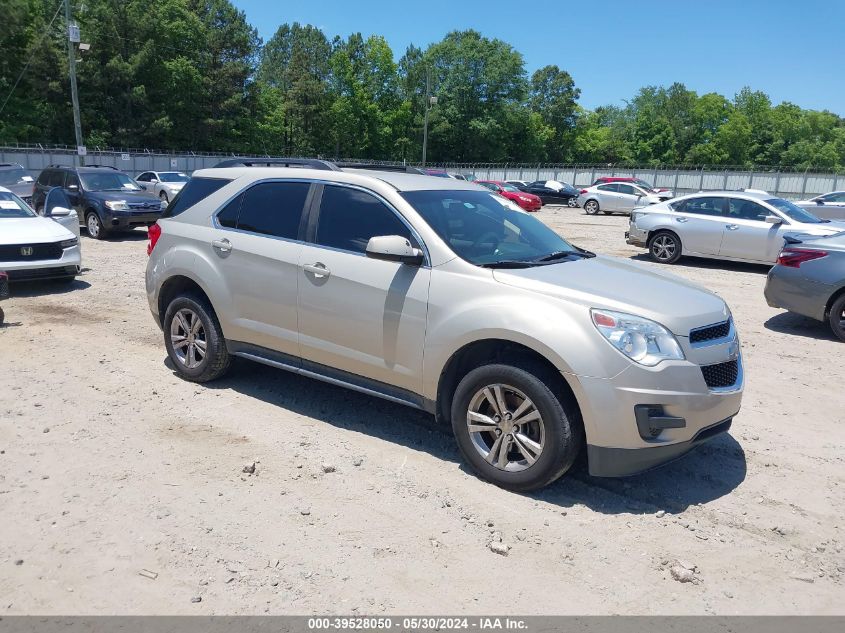
[[[310,189],[304,181],[258,182],[215,216],[208,248],[232,297],[227,338],[299,356],[298,267]]]

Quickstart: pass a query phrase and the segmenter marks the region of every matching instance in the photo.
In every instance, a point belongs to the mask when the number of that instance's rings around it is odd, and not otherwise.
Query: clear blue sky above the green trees
[[[745,85],[775,103],[845,115],[845,0],[233,0],[269,39],[284,22],[329,38],[387,38],[398,59],[473,28],[525,57],[528,72],[568,70],[581,104],[619,104],[680,81],[731,98]]]

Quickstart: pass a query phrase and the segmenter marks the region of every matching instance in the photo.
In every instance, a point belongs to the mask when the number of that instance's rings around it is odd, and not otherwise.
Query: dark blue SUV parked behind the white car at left
[[[112,231],[149,226],[161,217],[161,200],[114,167],[50,165],[35,182],[32,204],[43,212],[47,192],[61,187],[88,235],[101,240]]]

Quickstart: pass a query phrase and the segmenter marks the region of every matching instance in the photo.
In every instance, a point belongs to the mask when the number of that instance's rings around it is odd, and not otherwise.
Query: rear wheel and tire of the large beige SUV
[[[208,382],[224,375],[232,362],[217,315],[194,295],[173,299],[162,323],[164,345],[180,377]]]

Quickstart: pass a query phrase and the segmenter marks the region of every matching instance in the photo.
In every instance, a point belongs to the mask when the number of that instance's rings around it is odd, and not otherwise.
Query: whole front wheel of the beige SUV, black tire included
[[[483,365],[461,380],[452,430],[464,458],[487,481],[527,492],[550,484],[578,457],[583,429],[537,365]]]

